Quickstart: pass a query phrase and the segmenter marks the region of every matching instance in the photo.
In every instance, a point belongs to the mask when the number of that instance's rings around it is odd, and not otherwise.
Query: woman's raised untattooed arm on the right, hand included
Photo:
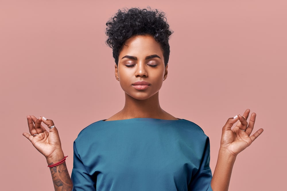
[[[229,118],[222,128],[218,159],[211,180],[211,187],[214,191],[228,190],[231,172],[236,156],[238,153],[251,145],[251,143],[263,132],[263,129],[259,129],[253,135],[251,135],[256,114],[251,114],[248,124],[247,118],[249,113],[250,110],[247,109],[243,116],[236,115],[234,118]],[[236,124],[236,126],[231,129],[232,125],[238,120],[239,122]]]

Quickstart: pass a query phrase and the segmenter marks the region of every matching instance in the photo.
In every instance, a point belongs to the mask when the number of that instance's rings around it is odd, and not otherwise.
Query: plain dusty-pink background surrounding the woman
[[[53,190],[22,136],[26,115],[53,119],[71,173],[73,141],[124,104],[105,23],[123,7],[158,8],[174,34],[160,103],[200,125],[214,171],[221,128],[245,109],[263,134],[238,155],[230,190],[284,190],[287,1],[0,1],[1,190]]]

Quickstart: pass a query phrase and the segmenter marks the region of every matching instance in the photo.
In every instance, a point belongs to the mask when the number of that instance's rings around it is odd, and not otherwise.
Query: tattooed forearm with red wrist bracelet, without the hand
[[[55,157],[47,159],[48,165],[52,165],[61,161],[64,158],[64,154],[58,155],[56,158],[56,160]],[[55,167],[51,167],[50,171],[55,191],[71,191],[73,189],[73,183],[71,181],[66,162],[63,162],[62,164],[59,164]]]

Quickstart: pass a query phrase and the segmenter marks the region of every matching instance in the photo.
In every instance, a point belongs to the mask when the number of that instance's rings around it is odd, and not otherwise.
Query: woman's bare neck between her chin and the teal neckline
[[[145,100],[134,99],[125,94],[125,106],[121,114],[128,118],[160,118],[164,111],[160,107],[158,92]]]

